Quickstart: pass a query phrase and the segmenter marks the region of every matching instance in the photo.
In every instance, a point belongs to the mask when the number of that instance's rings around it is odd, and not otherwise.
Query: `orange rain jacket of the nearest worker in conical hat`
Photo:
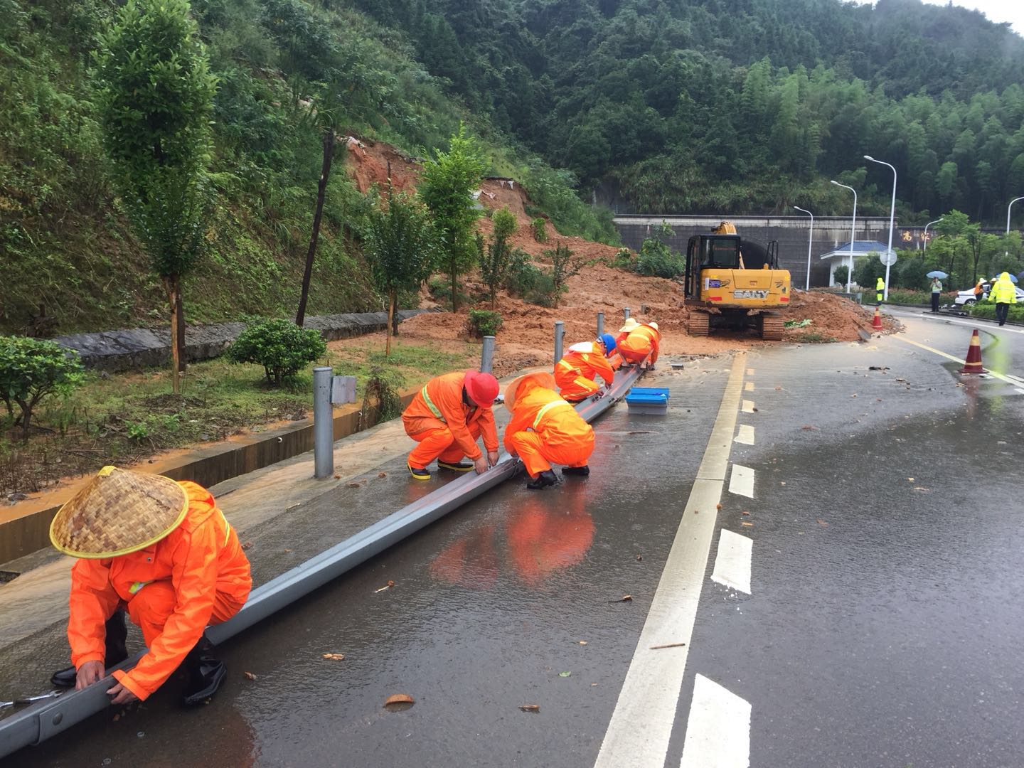
[[[188,512],[174,530],[138,552],[102,560],[79,559],[71,569],[68,640],[76,668],[103,660],[103,623],[119,604],[144,599],[146,585],[153,582],[170,583],[173,588],[176,601],[163,631],[145,638],[148,652],[130,672],[114,673],[143,700],[163,685],[199,641],[215,602],[224,621],[238,612],[252,588],[249,559],[210,492],[195,482],[179,484],[188,497]],[[225,603],[233,608],[227,615]]]

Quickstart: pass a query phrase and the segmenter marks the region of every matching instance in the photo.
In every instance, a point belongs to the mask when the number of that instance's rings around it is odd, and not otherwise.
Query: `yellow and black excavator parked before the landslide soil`
[[[778,242],[767,247],[743,242],[731,221],[709,234],[694,234],[686,247],[684,303],[687,331],[707,336],[712,328],[757,328],[762,339],[782,338],[788,306],[790,271],[778,268]]]

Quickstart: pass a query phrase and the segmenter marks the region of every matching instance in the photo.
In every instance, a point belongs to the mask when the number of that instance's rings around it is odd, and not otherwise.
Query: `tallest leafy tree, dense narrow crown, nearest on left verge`
[[[187,0],[128,0],[101,46],[103,141],[122,203],[167,293],[172,387],[178,393],[181,278],[205,244],[217,80]]]

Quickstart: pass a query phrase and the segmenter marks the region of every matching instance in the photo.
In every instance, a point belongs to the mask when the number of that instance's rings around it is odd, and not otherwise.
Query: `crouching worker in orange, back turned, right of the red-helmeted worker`
[[[505,390],[505,408],[512,414],[505,449],[522,459],[530,490],[558,482],[552,462],[564,465],[562,474],[590,474],[587,461],[594,452],[594,430],[558,395],[556,386],[551,374],[535,373],[520,376]]]

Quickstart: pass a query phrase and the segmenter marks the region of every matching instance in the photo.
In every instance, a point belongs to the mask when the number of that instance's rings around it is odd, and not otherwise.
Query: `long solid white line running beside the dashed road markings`
[[[722,498],[736,428],[736,402],[742,389],[745,356],[740,352],[733,359],[715,426],[595,768],[665,768],[715,534],[716,505]],[[685,645],[651,648],[670,643]]]

